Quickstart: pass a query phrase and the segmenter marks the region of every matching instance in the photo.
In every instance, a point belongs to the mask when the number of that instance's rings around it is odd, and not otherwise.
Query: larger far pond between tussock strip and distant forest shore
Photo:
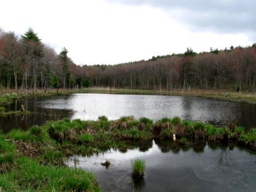
[[[145,116],[152,120],[179,116],[185,120],[209,122],[214,125],[228,125],[234,121],[246,128],[256,127],[256,104],[204,97],[76,93],[21,99],[6,108],[20,110],[21,104],[34,113],[0,118],[0,129],[27,129],[31,125],[41,125],[47,120],[63,117],[97,120],[101,115],[107,116],[109,120],[129,115],[135,118]]]

